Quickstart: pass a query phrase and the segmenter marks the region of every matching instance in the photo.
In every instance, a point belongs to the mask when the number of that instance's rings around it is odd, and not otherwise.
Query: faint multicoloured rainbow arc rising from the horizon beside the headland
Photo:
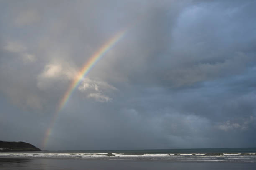
[[[99,50],[97,50],[90,58],[89,60],[84,64],[82,69],[77,73],[77,76],[74,77],[74,80],[72,83],[69,85],[69,88],[67,91],[64,93],[63,97],[61,98],[59,105],[56,109],[56,112],[54,113],[50,126],[47,128],[45,135],[44,135],[44,140],[42,144],[42,148],[45,148],[46,143],[49,139],[49,136],[51,135],[52,128],[54,126],[54,123],[56,121],[56,118],[58,116],[58,113],[64,108],[64,106],[67,104],[70,96],[76,89],[76,87],[79,85],[79,83],[83,80],[83,77],[85,77],[90,70],[92,69],[93,66],[102,58],[103,55],[105,55],[114,45],[121,40],[121,38],[125,35],[127,31],[124,30],[122,32],[119,32],[116,34],[114,37],[112,37],[110,40],[108,40],[102,47],[100,47]]]

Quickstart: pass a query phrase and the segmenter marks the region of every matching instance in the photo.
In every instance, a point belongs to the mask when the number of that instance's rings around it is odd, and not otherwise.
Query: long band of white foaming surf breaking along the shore
[[[255,153],[0,153],[1,157],[73,158],[95,160],[169,160],[169,161],[241,161],[256,162]]]

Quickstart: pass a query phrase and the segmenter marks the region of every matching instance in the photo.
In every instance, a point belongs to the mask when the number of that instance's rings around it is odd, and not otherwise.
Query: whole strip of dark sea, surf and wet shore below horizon
[[[256,170],[256,148],[0,152],[0,170]]]

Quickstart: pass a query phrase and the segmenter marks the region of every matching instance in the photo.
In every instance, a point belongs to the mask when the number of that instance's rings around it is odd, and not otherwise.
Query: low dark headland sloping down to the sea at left
[[[0,141],[0,152],[8,151],[41,151],[41,149],[36,148],[34,145],[26,142]]]

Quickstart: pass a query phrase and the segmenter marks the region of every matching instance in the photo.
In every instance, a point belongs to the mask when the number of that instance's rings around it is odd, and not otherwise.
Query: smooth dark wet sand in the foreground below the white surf
[[[1,170],[255,170],[256,163],[0,158]]]

